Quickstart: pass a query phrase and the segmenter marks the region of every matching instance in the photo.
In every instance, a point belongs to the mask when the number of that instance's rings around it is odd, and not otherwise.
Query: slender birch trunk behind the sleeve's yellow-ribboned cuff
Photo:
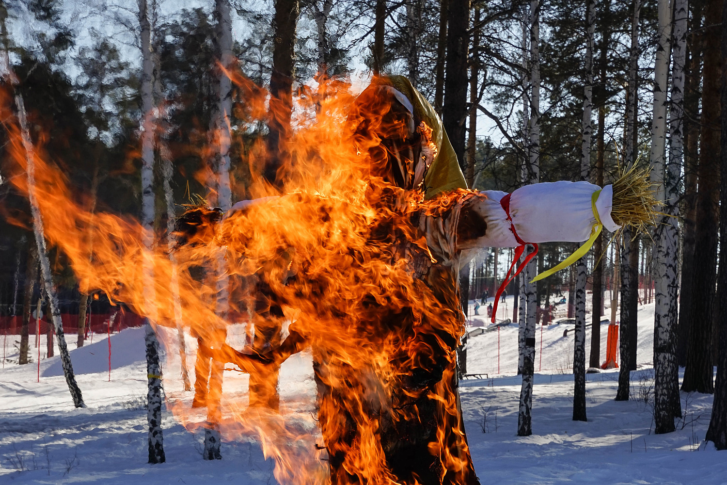
[[[581,142],[581,180],[590,180],[591,136],[593,135],[593,35],[595,33],[595,0],[587,0],[585,86],[583,87],[583,124]],[[586,262],[576,265],[576,328],[573,343],[573,420],[586,417]]]

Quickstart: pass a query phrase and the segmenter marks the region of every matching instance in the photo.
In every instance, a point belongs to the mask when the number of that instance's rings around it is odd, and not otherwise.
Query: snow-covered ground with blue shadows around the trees
[[[512,298],[508,298],[512,311]],[[483,308],[484,310],[484,308]],[[504,311],[504,308],[503,310]],[[484,312],[483,312],[484,313]],[[608,315],[608,310],[606,310]],[[635,398],[648,393],[651,382],[651,332],[654,305],[639,308],[640,369],[632,373]],[[475,317],[476,318],[476,317]],[[484,324],[484,317],[480,319]],[[479,321],[473,322],[479,324]],[[238,332],[239,333],[239,332]],[[487,379],[462,382],[462,406],[475,468],[483,484],[725,484],[727,455],[703,442],[711,396],[682,394],[686,422],[678,431],[651,433],[651,412],[643,401],[615,402],[615,372],[589,374],[588,422],[571,420],[573,335],[562,325],[536,336],[533,435],[515,435],[520,379],[515,375],[517,326],[470,338],[468,372]],[[233,332],[232,340],[239,338]],[[606,327],[601,336],[606,353]],[[7,358],[12,351],[12,336]],[[199,452],[202,435],[190,432],[171,413],[164,416],[166,463],[148,465],[146,449],[146,380],[141,329],[111,336],[111,382],[108,381],[108,339],[96,335],[91,345],[75,349],[71,358],[87,409],[73,409],[57,357],[42,359],[40,382],[36,362],[0,369],[0,484],[275,484],[273,462],[265,460],[254,436],[223,436],[221,462],[205,462]],[[590,341],[590,332],[587,342]],[[44,337],[41,353],[44,353]],[[195,342],[188,339],[190,364]],[[31,353],[37,350],[31,337]],[[588,345],[588,344],[587,344]],[[588,355],[588,349],[586,350]],[[281,412],[315,433],[315,387],[310,356],[292,358],[281,369]],[[189,407],[191,393],[182,390],[179,358],[170,351],[165,365],[169,405]],[[225,372],[225,401],[246,405],[247,377]],[[191,413],[190,421],[204,421]],[[142,478],[143,477],[143,478]]]

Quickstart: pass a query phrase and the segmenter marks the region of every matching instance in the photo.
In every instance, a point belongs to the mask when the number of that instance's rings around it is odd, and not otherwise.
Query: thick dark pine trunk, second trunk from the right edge
[[[722,3],[710,0],[705,18],[722,17]],[[720,24],[704,29],[704,81],[702,83],[702,133],[699,153],[699,191],[696,196],[696,234],[692,271],[691,317],[686,369],[682,390],[711,394],[712,313],[717,275],[717,228],[719,227],[720,81],[722,56]]]

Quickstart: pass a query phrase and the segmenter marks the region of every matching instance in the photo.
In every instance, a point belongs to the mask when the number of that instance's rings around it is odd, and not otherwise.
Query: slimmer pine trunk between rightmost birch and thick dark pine
[[[699,84],[702,79],[702,2],[692,2],[692,18],[688,20],[689,63],[684,93],[684,194],[682,217],[682,268],[679,295],[679,324],[677,339],[677,360],[686,365],[686,350],[689,340],[689,313],[691,311],[692,272],[694,269],[694,229],[696,223],[696,182],[699,165],[699,98],[702,95]]]

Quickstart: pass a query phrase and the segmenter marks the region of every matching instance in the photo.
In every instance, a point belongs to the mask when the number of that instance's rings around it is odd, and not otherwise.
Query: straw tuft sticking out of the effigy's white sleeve
[[[648,233],[648,226],[656,225],[656,184],[649,180],[649,171],[632,164],[619,167],[619,177],[614,182],[614,202],[611,218],[614,223],[630,226],[636,233]]]

